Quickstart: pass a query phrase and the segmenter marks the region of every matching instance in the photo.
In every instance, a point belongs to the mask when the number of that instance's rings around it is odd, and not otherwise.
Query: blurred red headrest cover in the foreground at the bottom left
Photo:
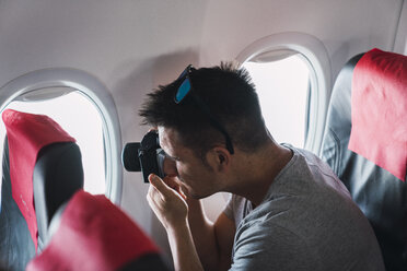
[[[153,269],[158,255],[152,240],[105,196],[80,190],[66,205],[49,245],[26,270],[119,270],[136,267],[133,260],[146,256],[154,261],[142,270],[166,270]]]

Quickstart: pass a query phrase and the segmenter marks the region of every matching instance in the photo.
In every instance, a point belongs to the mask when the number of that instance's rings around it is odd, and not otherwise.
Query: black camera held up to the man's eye
[[[149,182],[149,175],[155,174],[164,178],[165,153],[160,146],[159,134],[150,131],[141,142],[129,142],[121,152],[121,163],[127,172],[142,172],[144,182]]]

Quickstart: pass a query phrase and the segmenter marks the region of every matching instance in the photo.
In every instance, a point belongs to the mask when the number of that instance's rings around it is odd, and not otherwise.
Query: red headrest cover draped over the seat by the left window
[[[27,222],[37,248],[37,222],[34,211],[33,170],[39,150],[55,142],[74,142],[57,122],[44,115],[7,109],[2,114],[5,125],[12,196]]]

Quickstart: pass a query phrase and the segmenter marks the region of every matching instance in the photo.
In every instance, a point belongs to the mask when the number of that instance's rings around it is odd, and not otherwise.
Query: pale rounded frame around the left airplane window
[[[28,92],[61,86],[81,92],[100,113],[105,144],[105,195],[114,203],[120,204],[123,168],[119,119],[112,94],[97,78],[72,68],[49,68],[28,72],[0,89],[0,111],[3,111],[12,101]]]

